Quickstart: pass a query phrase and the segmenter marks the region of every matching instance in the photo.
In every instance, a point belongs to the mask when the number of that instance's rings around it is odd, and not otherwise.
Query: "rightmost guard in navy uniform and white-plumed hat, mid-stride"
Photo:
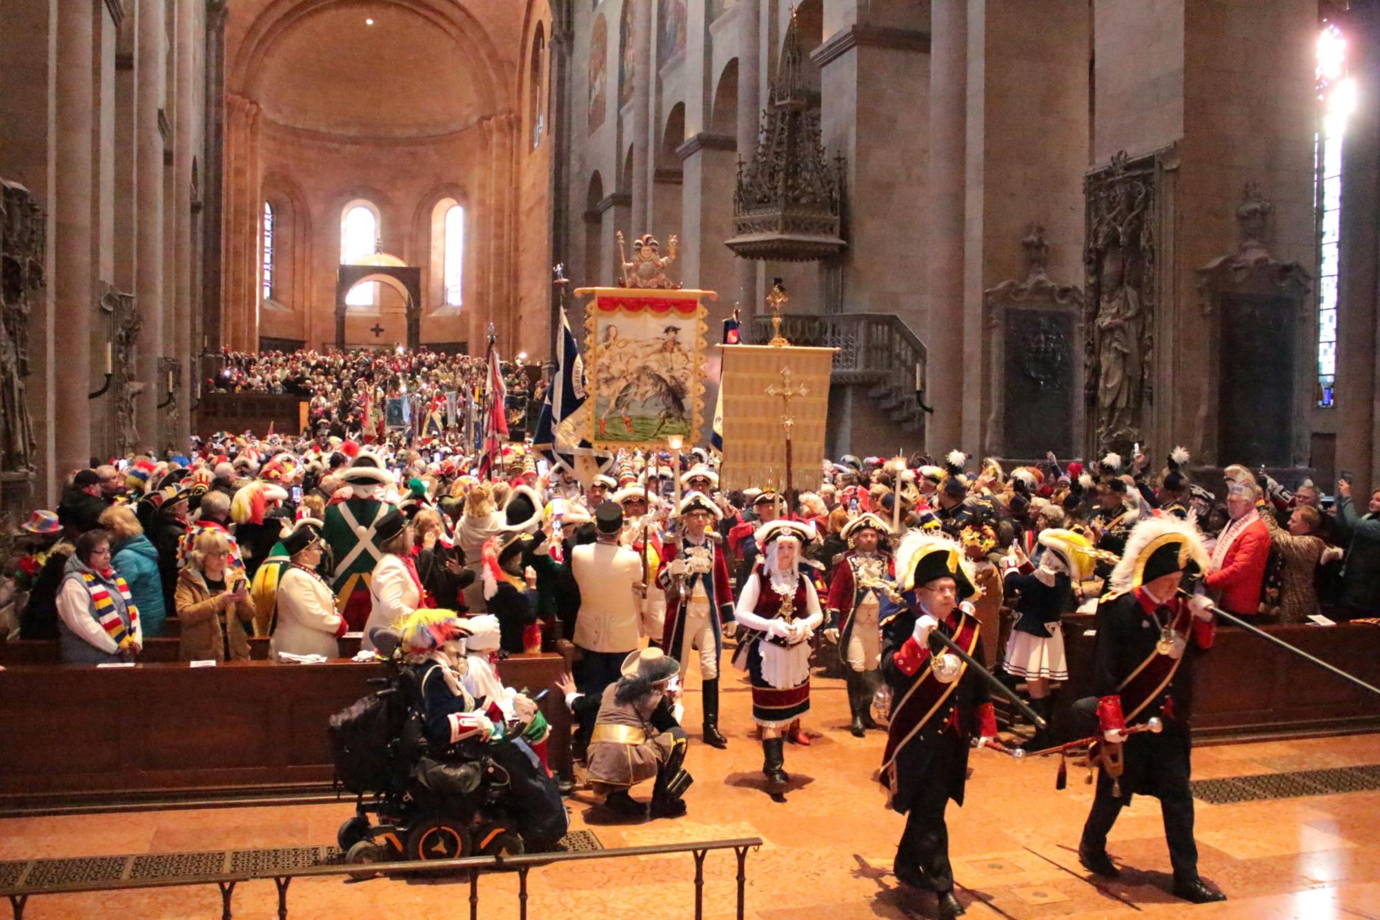
[[[1107,833],[1134,793],[1155,796],[1174,869],[1173,892],[1194,903],[1225,901],[1198,876],[1194,799],[1188,788],[1194,661],[1212,647],[1216,625],[1206,597],[1185,600],[1183,579],[1208,567],[1198,527],[1173,516],[1148,517],[1130,531],[1097,607],[1093,690],[1075,713],[1096,712],[1103,741],[1097,794],[1083,825],[1078,858],[1089,870],[1115,877]],[[1158,717],[1159,734],[1127,734]],[[1119,761],[1119,774],[1112,764]]]

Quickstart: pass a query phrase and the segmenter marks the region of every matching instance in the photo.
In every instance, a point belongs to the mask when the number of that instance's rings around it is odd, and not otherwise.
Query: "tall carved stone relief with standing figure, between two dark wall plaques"
[[[1125,455],[1147,440],[1158,305],[1155,160],[1132,160],[1123,150],[1083,181],[1085,394],[1097,455]]]

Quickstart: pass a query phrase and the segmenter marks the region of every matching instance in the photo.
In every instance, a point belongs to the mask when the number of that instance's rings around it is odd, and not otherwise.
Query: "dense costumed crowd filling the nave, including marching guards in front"
[[[1122,786],[1155,794],[1176,894],[1210,901],[1221,895],[1196,876],[1187,796],[1187,669],[1212,644],[1214,611],[1256,622],[1380,615],[1380,490],[1354,497],[1346,479],[1323,499],[1312,483],[1289,491],[1245,466],[1194,481],[1181,448],[1162,465],[1137,451],[1089,463],[1050,454],[1014,469],[954,451],[824,461],[799,474],[807,491],[787,497],[720,488],[702,448],[683,462],[621,452],[578,481],[523,443],[489,458],[480,477],[466,439],[367,433],[359,393],[341,383],[359,359],[229,360],[230,379],[250,386],[313,400],[324,388],[330,423],[302,436],[222,433],[179,457],[77,472],[55,510],[23,524],[6,566],[21,637],[59,640],[65,662],[138,661],[175,622],[184,661],[247,658],[258,636],[273,658],[309,662],[339,657],[346,633],[371,658],[377,630],[411,623],[404,632],[432,643],[411,654],[454,672],[437,683],[454,699],[432,702],[447,713],[437,731],[455,741],[483,734],[482,701],[505,697],[501,686],[457,690],[476,650],[489,661],[569,640],[575,666],[559,688],[574,757],[610,810],[653,817],[684,812],[679,697],[691,665],[700,739],[724,748],[719,680],[731,643],[751,683],[765,788],[778,799],[792,788],[785,745],[818,737],[806,719],[824,666],[846,680],[853,735],[887,716],[880,777],[909,815],[897,877],[936,891],[949,916],[945,803],[962,803],[969,738],[1002,742],[988,686],[945,647],[1023,691],[1046,723],[1027,742],[1041,749],[1071,730],[1049,726],[1052,694],[1070,680],[1061,621],[1096,611],[1107,637],[1092,676],[1098,699],[1083,716],[1138,760],[1119,785],[1104,775],[1079,855],[1115,873],[1104,847]],[[447,374],[473,370],[400,357],[375,382],[451,386]],[[1190,583],[1194,599],[1176,597]],[[1158,628],[1130,629],[1143,618]],[[1133,699],[1132,677],[1156,662],[1169,677]],[[1136,734],[1156,712],[1163,734]],[[653,779],[650,803],[629,794]]]

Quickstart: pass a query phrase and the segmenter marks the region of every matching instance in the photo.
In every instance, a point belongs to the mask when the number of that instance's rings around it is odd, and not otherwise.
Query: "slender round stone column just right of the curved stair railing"
[[[925,446],[938,457],[959,446],[963,422],[967,4],[940,0],[930,7],[930,168],[926,182],[930,303],[923,335],[929,346],[926,399],[934,414],[926,422]]]

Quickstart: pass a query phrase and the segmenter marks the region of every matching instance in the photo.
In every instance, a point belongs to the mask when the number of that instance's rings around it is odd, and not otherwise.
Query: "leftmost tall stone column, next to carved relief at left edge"
[[[94,17],[90,3],[62,3],[57,29],[57,146],[52,207],[57,233],[48,279],[55,288],[54,350],[62,372],[54,375],[57,479],[91,462],[91,312],[95,274],[91,226],[95,139]]]

